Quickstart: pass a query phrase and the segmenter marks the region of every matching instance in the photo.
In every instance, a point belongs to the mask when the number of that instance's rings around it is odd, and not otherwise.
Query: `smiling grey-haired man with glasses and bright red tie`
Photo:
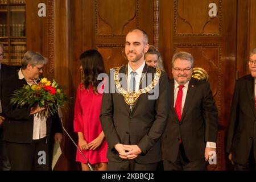
[[[217,108],[209,83],[191,77],[193,60],[187,52],[172,59],[170,118],[162,137],[164,170],[206,170],[205,161],[216,154]]]

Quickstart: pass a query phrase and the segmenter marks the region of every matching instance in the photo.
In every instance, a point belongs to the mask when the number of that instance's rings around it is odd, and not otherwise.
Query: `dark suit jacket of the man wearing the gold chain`
[[[115,89],[114,75],[111,72],[113,73],[114,69],[110,70],[108,76],[109,79],[111,78],[110,84]],[[148,67],[146,64],[143,69],[143,73],[145,72],[147,72],[146,78],[149,78],[149,73],[154,74],[156,69]],[[122,67],[119,73],[125,74],[126,67]],[[126,88],[126,77],[122,81],[123,88]],[[114,148],[117,143],[137,144],[142,150],[142,154],[135,158],[137,163],[150,164],[162,160],[160,137],[166,127],[169,111],[167,73],[161,73],[158,99],[148,100],[149,93],[141,94],[132,111],[122,94],[106,93],[106,91],[110,91],[108,84],[105,85],[105,93],[102,97],[100,119],[109,144],[107,154],[109,161],[122,162],[123,160],[119,158],[118,152]]]

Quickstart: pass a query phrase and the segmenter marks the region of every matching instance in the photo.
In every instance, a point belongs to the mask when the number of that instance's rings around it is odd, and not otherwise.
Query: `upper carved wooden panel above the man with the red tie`
[[[195,1],[174,1],[175,5],[175,34],[178,36],[201,35],[208,36],[219,35],[221,10],[218,16],[210,17],[207,8],[210,3],[216,3],[218,9],[221,6],[218,0],[195,0]]]

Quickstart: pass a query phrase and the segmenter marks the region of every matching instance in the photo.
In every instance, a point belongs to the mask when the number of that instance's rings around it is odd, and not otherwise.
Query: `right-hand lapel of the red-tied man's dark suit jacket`
[[[184,115],[186,114],[189,105],[192,103],[193,96],[194,96],[195,91],[196,91],[195,80],[194,79],[195,78],[191,78],[191,80],[189,81],[189,84],[188,84],[188,92],[187,92],[183,112],[182,112],[182,115],[181,115],[181,121],[183,120]]]

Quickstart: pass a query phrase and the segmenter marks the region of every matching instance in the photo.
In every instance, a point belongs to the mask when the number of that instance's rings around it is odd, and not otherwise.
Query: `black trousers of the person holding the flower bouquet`
[[[48,171],[51,167],[46,138],[31,144],[6,142],[6,147],[12,171]]]

